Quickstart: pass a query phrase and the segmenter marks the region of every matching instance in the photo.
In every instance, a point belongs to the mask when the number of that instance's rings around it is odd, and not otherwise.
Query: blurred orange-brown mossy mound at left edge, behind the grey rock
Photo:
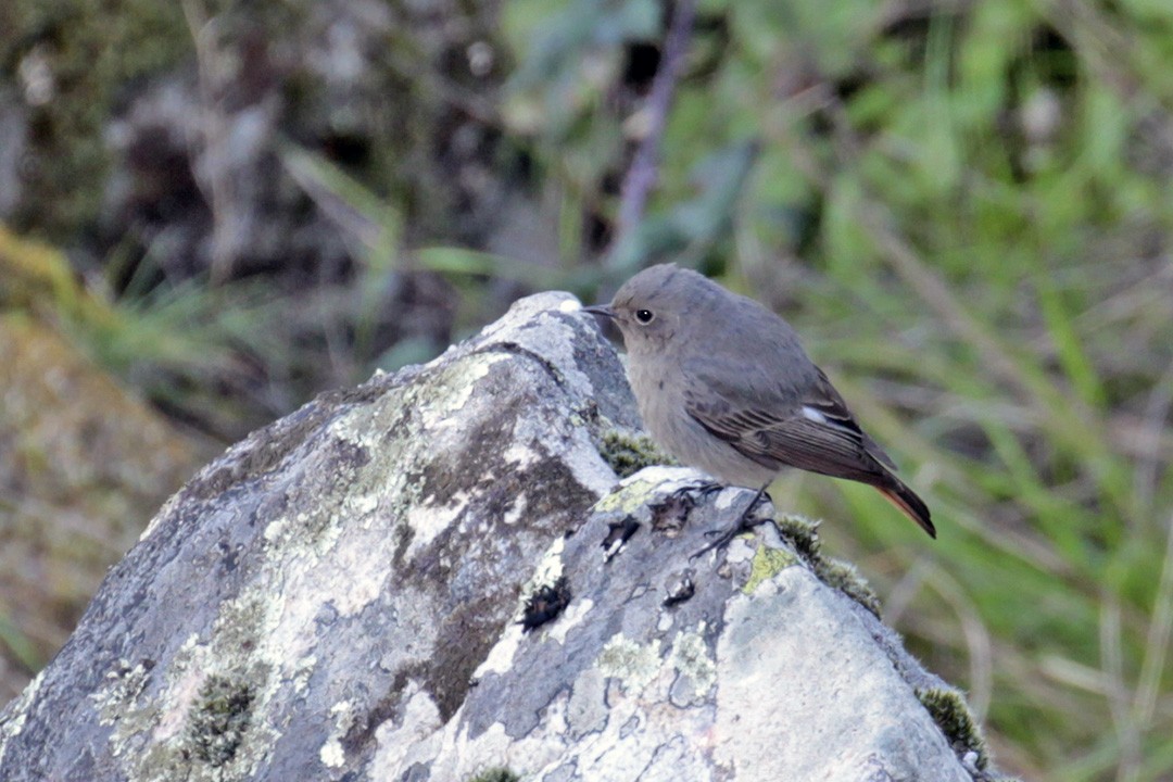
[[[60,251],[0,226],[0,701],[66,641],[109,566],[217,446],[177,427],[117,382],[114,352],[176,363],[181,322],[157,342],[150,318],[79,285]],[[176,314],[170,311],[171,314]],[[157,313],[156,313],[157,314]],[[90,334],[86,340],[67,335]],[[188,358],[190,361],[190,355]]]

